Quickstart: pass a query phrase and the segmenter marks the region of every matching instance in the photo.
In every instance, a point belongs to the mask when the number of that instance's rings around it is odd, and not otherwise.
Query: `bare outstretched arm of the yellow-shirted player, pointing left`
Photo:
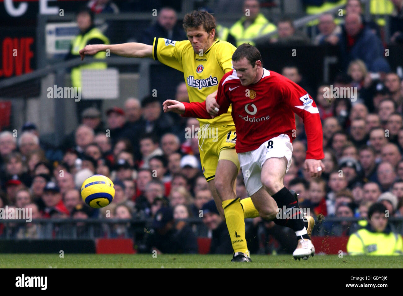
[[[93,56],[98,52],[105,52],[107,49],[109,49],[112,54],[128,58],[152,58],[152,45],[128,42],[121,44],[86,45],[80,50],[81,60],[84,59],[85,55]]]

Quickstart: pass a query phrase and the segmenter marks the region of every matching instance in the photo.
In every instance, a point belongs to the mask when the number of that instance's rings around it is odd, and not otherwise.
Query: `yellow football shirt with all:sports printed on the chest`
[[[202,55],[196,54],[189,40],[173,41],[154,38],[153,59],[183,72],[191,102],[203,102],[218,89],[225,73],[231,71],[232,55],[236,48],[231,43],[216,40]],[[231,106],[228,112],[212,119],[199,119],[202,124],[234,124]]]

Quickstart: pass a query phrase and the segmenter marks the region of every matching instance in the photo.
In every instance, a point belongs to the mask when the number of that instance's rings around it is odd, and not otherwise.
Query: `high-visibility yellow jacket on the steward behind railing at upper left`
[[[104,44],[109,44],[109,39],[106,37],[102,32],[97,29],[93,28],[89,30],[85,34],[79,34],[77,35],[72,41],[71,41],[71,54],[75,56],[79,56],[79,51],[83,49],[86,45],[87,42],[91,39],[101,39],[104,41]],[[94,55],[94,58],[98,59],[104,59],[106,58],[106,53],[105,52],[98,52],[96,55]],[[103,62],[96,62],[96,63],[91,63],[91,64],[85,64],[82,66],[77,66],[75,68],[71,69],[71,84],[73,87],[81,87],[81,70],[83,69],[106,69],[106,63]]]

